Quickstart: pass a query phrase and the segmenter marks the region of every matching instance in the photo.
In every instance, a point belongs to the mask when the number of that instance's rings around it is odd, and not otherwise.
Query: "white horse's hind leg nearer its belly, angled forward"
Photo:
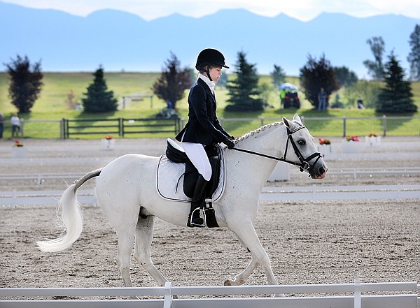
[[[155,279],[160,286],[165,286],[167,279],[155,267],[151,259],[151,245],[153,240],[153,225],[155,217],[148,216],[146,219],[139,217],[136,226],[136,244],[134,258],[139,262],[148,274]]]

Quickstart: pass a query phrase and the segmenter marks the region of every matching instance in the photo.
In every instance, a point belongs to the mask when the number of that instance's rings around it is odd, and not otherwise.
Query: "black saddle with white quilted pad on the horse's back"
[[[217,227],[212,202],[221,198],[225,186],[223,152],[218,145],[204,148],[209,157],[212,174],[206,194],[205,212],[209,228]],[[193,197],[198,171],[183,148],[174,140],[167,140],[165,155],[160,157],[157,170],[158,193],[165,199],[190,202]],[[180,187],[182,186],[182,188]]]

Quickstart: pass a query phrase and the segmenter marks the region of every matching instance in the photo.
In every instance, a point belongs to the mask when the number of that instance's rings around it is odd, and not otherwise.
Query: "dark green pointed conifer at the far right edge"
[[[391,53],[389,61],[385,65],[385,87],[381,89],[377,111],[379,112],[416,112],[417,106],[412,99],[410,82],[404,80],[404,70]]]

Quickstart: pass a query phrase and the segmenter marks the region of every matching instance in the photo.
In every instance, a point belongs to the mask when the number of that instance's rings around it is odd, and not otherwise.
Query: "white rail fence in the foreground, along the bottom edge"
[[[420,304],[419,288],[420,286],[415,281],[360,283],[360,279],[355,279],[354,284],[284,286],[172,286],[171,283],[167,282],[165,287],[152,288],[0,288],[0,307],[417,308]],[[286,297],[267,297],[267,295],[281,293],[285,294]],[[369,295],[363,295],[363,293],[369,293]],[[265,297],[223,298],[223,295],[262,294]],[[290,294],[293,297],[287,296]],[[194,295],[193,298],[191,295]],[[211,297],[210,295],[216,295],[217,297]],[[154,299],[64,299],[66,297],[112,298],[135,296],[152,296]],[[34,300],[38,297],[43,299]],[[50,299],[51,297],[60,299]],[[3,298],[6,299],[3,300]],[[19,299],[14,300],[13,298]],[[22,298],[25,299],[22,300]]]

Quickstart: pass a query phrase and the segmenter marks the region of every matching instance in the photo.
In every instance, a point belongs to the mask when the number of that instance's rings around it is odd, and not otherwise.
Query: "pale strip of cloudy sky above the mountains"
[[[86,16],[95,10],[112,8],[154,20],[173,13],[202,17],[224,8],[244,8],[252,13],[274,17],[284,13],[309,21],[320,13],[346,13],[354,17],[398,14],[420,19],[419,0],[1,0],[29,8],[52,8]]]

